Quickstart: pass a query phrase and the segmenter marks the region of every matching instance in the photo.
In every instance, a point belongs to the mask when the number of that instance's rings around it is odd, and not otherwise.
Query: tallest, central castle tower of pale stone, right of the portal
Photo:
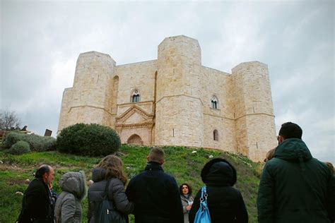
[[[200,68],[197,40],[167,37],[158,46],[155,145],[203,146]]]

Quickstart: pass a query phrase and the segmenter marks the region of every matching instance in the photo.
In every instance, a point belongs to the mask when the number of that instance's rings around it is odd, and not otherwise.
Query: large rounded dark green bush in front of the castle
[[[105,156],[119,150],[119,135],[109,127],[95,123],[77,123],[57,136],[57,150],[75,155]]]

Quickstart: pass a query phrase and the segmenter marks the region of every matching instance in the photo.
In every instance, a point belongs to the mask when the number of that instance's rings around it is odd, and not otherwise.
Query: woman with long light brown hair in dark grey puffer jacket
[[[92,172],[93,184],[88,188],[88,222],[95,222],[95,209],[105,195],[107,182],[107,198],[111,200],[120,214],[124,215],[128,222],[128,215],[134,211],[134,203],[129,202],[124,190],[127,177],[122,169],[122,160],[114,155],[104,157]]]

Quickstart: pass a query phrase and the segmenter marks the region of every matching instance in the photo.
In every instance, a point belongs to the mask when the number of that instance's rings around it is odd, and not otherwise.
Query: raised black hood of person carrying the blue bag
[[[201,179],[206,185],[233,186],[237,181],[236,169],[223,158],[214,158],[201,170]]]

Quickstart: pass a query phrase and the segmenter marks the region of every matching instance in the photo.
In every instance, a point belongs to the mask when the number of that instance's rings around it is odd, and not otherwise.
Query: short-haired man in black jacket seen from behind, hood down
[[[175,179],[162,168],[164,151],[153,148],[144,171],[127,186],[127,196],[135,203],[136,223],[184,222],[182,202]]]

